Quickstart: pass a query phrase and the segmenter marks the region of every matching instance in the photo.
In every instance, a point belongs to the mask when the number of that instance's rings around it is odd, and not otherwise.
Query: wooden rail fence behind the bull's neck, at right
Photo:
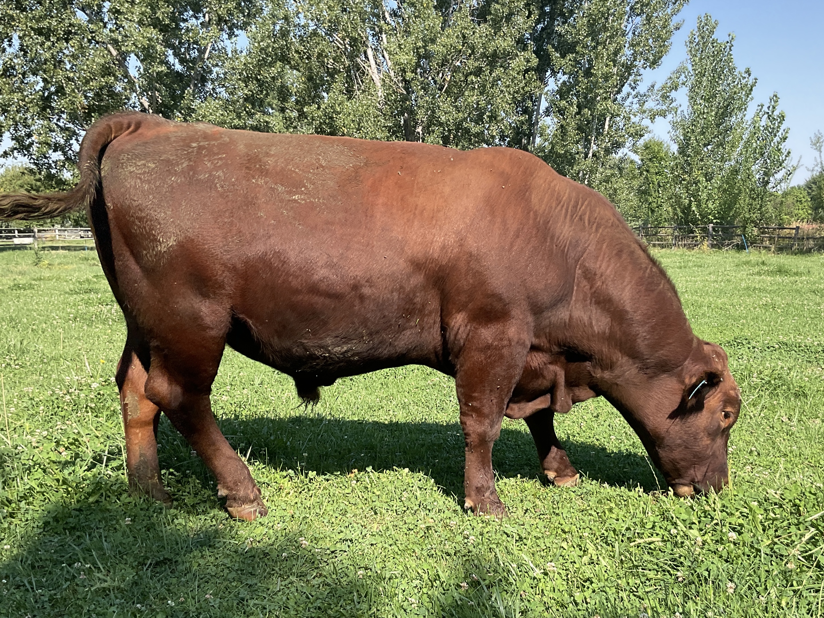
[[[824,236],[820,231],[796,227],[750,227],[737,225],[686,226],[634,226],[636,235],[649,246],[672,249],[762,249],[782,251],[822,251]]]

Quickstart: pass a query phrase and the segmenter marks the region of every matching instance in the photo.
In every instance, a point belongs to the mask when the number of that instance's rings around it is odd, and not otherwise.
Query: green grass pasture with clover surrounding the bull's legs
[[[578,488],[544,485],[526,425],[506,420],[511,517],[471,517],[450,378],[353,377],[305,411],[230,350],[213,405],[269,505],[246,523],[166,419],[176,506],[129,496],[124,324],[96,256],[0,254],[0,616],[821,616],[824,257],[657,255],[742,387],[733,489],[660,491],[591,400],[558,421]]]

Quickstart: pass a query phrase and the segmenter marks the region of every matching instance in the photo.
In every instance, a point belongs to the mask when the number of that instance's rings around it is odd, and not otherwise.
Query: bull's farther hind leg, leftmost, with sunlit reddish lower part
[[[157,463],[157,422],[160,409],[146,397],[149,354],[131,333],[117,366],[115,382],[120,391],[120,410],[126,439],[126,472],[129,487],[166,505],[171,498],[163,487]]]

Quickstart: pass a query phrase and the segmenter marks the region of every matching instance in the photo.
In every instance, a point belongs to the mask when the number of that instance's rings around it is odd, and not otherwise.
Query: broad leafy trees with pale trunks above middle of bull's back
[[[455,147],[513,145],[535,89],[522,2],[269,2],[200,116]]]

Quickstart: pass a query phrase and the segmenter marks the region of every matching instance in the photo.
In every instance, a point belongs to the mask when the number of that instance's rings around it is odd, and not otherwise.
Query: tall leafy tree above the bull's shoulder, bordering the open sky
[[[544,2],[532,40],[539,80],[533,110],[545,106],[535,152],[559,173],[609,192],[621,151],[638,143],[648,92],[645,69],[656,68],[680,26],[686,0]]]

